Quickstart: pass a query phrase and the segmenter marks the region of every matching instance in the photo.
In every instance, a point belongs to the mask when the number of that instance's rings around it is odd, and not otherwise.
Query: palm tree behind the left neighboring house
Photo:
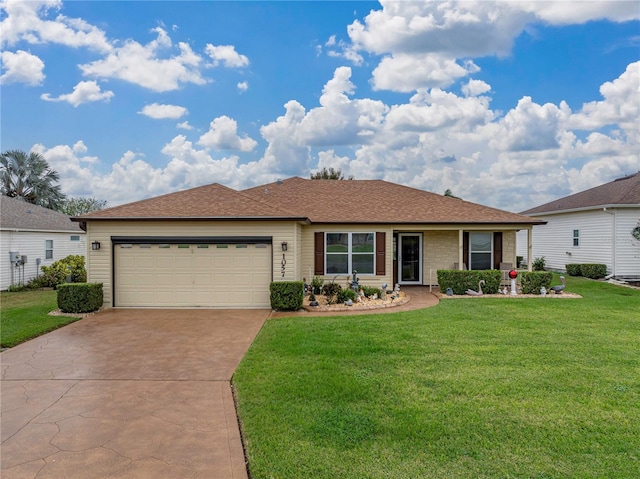
[[[3,195],[56,209],[66,197],[55,184],[58,181],[58,173],[39,153],[9,150],[0,155],[0,192]]]

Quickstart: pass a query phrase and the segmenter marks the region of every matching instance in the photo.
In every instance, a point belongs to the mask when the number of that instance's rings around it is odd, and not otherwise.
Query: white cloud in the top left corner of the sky
[[[28,43],[57,43],[73,48],[86,47],[100,52],[111,50],[104,32],[80,18],[57,15],[47,19],[51,11],[62,9],[61,0],[3,0],[0,9],[5,17],[0,23],[0,46]]]

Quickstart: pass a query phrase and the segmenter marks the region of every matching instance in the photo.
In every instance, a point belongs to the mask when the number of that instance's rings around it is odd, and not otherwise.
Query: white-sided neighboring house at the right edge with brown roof
[[[533,228],[533,258],[566,270],[567,264],[601,263],[616,278],[640,278],[640,173],[560,198],[522,212],[545,220]],[[636,229],[638,228],[638,229]],[[527,258],[526,232],[518,234],[518,254]]]

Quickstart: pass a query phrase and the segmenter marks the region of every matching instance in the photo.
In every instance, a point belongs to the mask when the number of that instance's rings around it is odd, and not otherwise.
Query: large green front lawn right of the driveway
[[[251,477],[640,477],[640,291],[567,279],[268,321],[233,378]]]

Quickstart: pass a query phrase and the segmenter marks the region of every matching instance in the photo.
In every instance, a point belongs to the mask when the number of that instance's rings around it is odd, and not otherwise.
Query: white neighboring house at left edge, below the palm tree
[[[86,233],[69,216],[8,196],[0,197],[0,234],[2,291],[28,283],[41,266],[87,251]]]

